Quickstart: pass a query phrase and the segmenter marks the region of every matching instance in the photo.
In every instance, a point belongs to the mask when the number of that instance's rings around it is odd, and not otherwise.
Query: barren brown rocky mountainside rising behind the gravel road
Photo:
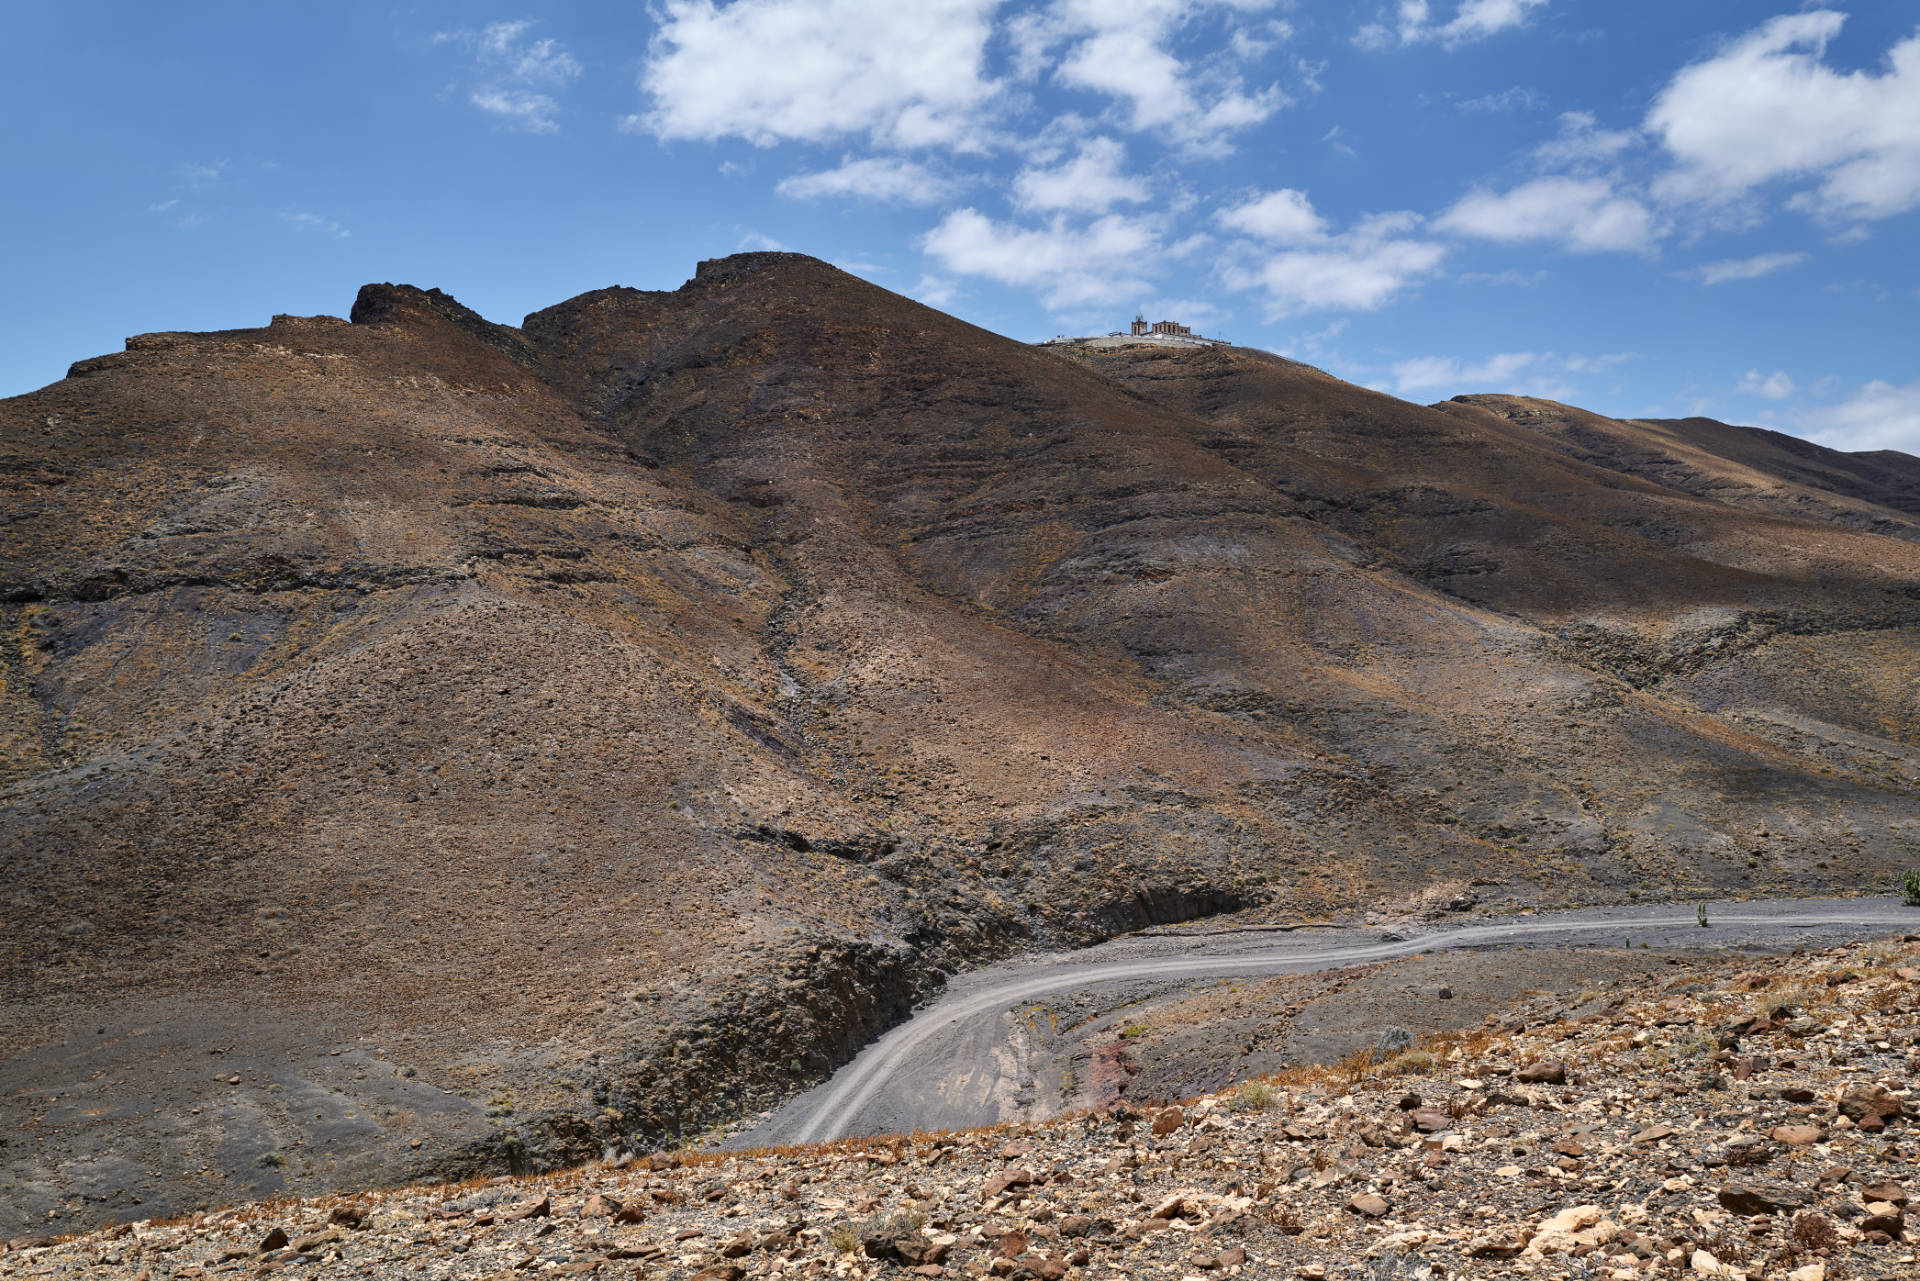
[[[797,255],[132,338],[0,401],[4,1177],[589,1154],[1196,914],[1884,880],[1920,545],[1645,472]],[[257,1089],[19,1102],[169,1035]]]

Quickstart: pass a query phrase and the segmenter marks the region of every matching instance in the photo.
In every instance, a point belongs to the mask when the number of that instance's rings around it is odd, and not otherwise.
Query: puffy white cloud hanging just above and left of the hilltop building
[[[922,248],[952,273],[1039,288],[1054,309],[1139,298],[1150,290],[1148,275],[1162,257],[1160,223],[1123,213],[1087,227],[1064,215],[1044,227],[1020,227],[954,209]]]

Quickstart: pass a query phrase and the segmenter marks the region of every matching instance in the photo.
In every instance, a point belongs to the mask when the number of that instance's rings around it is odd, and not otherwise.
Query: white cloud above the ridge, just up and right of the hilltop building
[[[1446,257],[1446,246],[1409,234],[1419,223],[1415,213],[1377,213],[1346,232],[1256,257],[1252,265],[1231,261],[1221,277],[1231,288],[1265,292],[1269,321],[1306,311],[1373,311],[1432,275]]]

